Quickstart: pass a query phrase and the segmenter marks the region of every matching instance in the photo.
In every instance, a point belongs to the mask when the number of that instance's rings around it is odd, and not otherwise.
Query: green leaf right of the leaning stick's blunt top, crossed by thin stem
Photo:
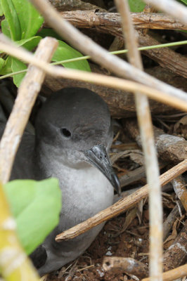
[[[58,62],[60,60],[68,60],[70,58],[78,58],[83,56],[81,53],[79,53],[79,51],[75,50],[75,48],[72,48],[63,41],[58,40],[58,44],[58,48],[53,54],[52,61]],[[87,60],[79,60],[72,63],[62,63],[62,65],[67,68],[74,68],[75,70],[91,71]]]

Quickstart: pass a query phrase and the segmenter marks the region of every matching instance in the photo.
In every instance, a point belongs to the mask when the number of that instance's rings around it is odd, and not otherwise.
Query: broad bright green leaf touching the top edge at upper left
[[[30,4],[28,0],[12,0],[15,10],[18,13],[21,27],[21,37],[19,39],[27,39],[34,36],[39,27],[41,27],[44,19],[39,12]]]

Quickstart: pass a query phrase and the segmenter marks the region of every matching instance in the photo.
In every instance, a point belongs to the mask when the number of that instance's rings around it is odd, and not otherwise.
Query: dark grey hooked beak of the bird
[[[103,175],[108,178],[108,181],[110,181],[111,185],[115,188],[117,194],[120,196],[120,181],[112,169],[112,165],[110,164],[110,161],[108,159],[105,145],[95,145],[93,146],[93,148],[91,148],[90,150],[86,150],[84,153],[87,159],[89,159],[89,162],[91,162],[93,166],[96,166],[96,168],[98,168],[101,173],[103,173]]]

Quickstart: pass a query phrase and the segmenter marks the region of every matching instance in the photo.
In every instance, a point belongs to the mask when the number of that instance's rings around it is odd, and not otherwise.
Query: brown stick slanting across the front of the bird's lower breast
[[[187,159],[183,160],[183,162],[179,163],[178,165],[174,166],[169,171],[165,172],[160,176],[160,185],[165,185],[172,181],[173,178],[179,176],[184,171],[187,170]],[[68,240],[72,239],[82,233],[85,233],[87,230],[93,228],[94,226],[98,226],[98,224],[107,221],[114,216],[118,216],[122,212],[126,211],[130,207],[137,204],[137,202],[141,201],[143,198],[148,196],[148,185],[144,185],[143,188],[140,188],[133,194],[123,198],[122,200],[116,202],[111,207],[100,211],[95,216],[92,216],[88,220],[79,223],[77,226],[70,228],[63,233],[60,233],[56,236],[56,241],[60,242],[61,240]]]

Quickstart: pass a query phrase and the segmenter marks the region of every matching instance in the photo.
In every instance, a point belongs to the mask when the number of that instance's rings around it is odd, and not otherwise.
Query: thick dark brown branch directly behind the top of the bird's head
[[[109,74],[107,70],[101,69],[98,65],[90,63],[90,66],[92,72],[103,73],[105,75]],[[157,66],[153,67],[151,70],[149,69],[148,73],[152,74],[157,79],[161,79],[168,84],[176,86],[176,88],[180,87],[183,91],[187,91],[187,79],[179,77],[179,75],[176,75],[173,72],[169,72],[168,70],[164,70],[162,67]],[[136,116],[134,96],[127,91],[120,91],[119,89],[110,89],[88,82],[76,81],[75,79],[54,78],[48,75],[44,81],[42,94],[44,96],[49,96],[53,91],[58,91],[70,86],[83,87],[98,93],[98,95],[101,96],[106,103],[108,103],[112,117],[122,118]],[[174,112],[172,107],[162,103],[157,103],[155,100],[150,100],[150,110],[155,114],[161,112]]]

